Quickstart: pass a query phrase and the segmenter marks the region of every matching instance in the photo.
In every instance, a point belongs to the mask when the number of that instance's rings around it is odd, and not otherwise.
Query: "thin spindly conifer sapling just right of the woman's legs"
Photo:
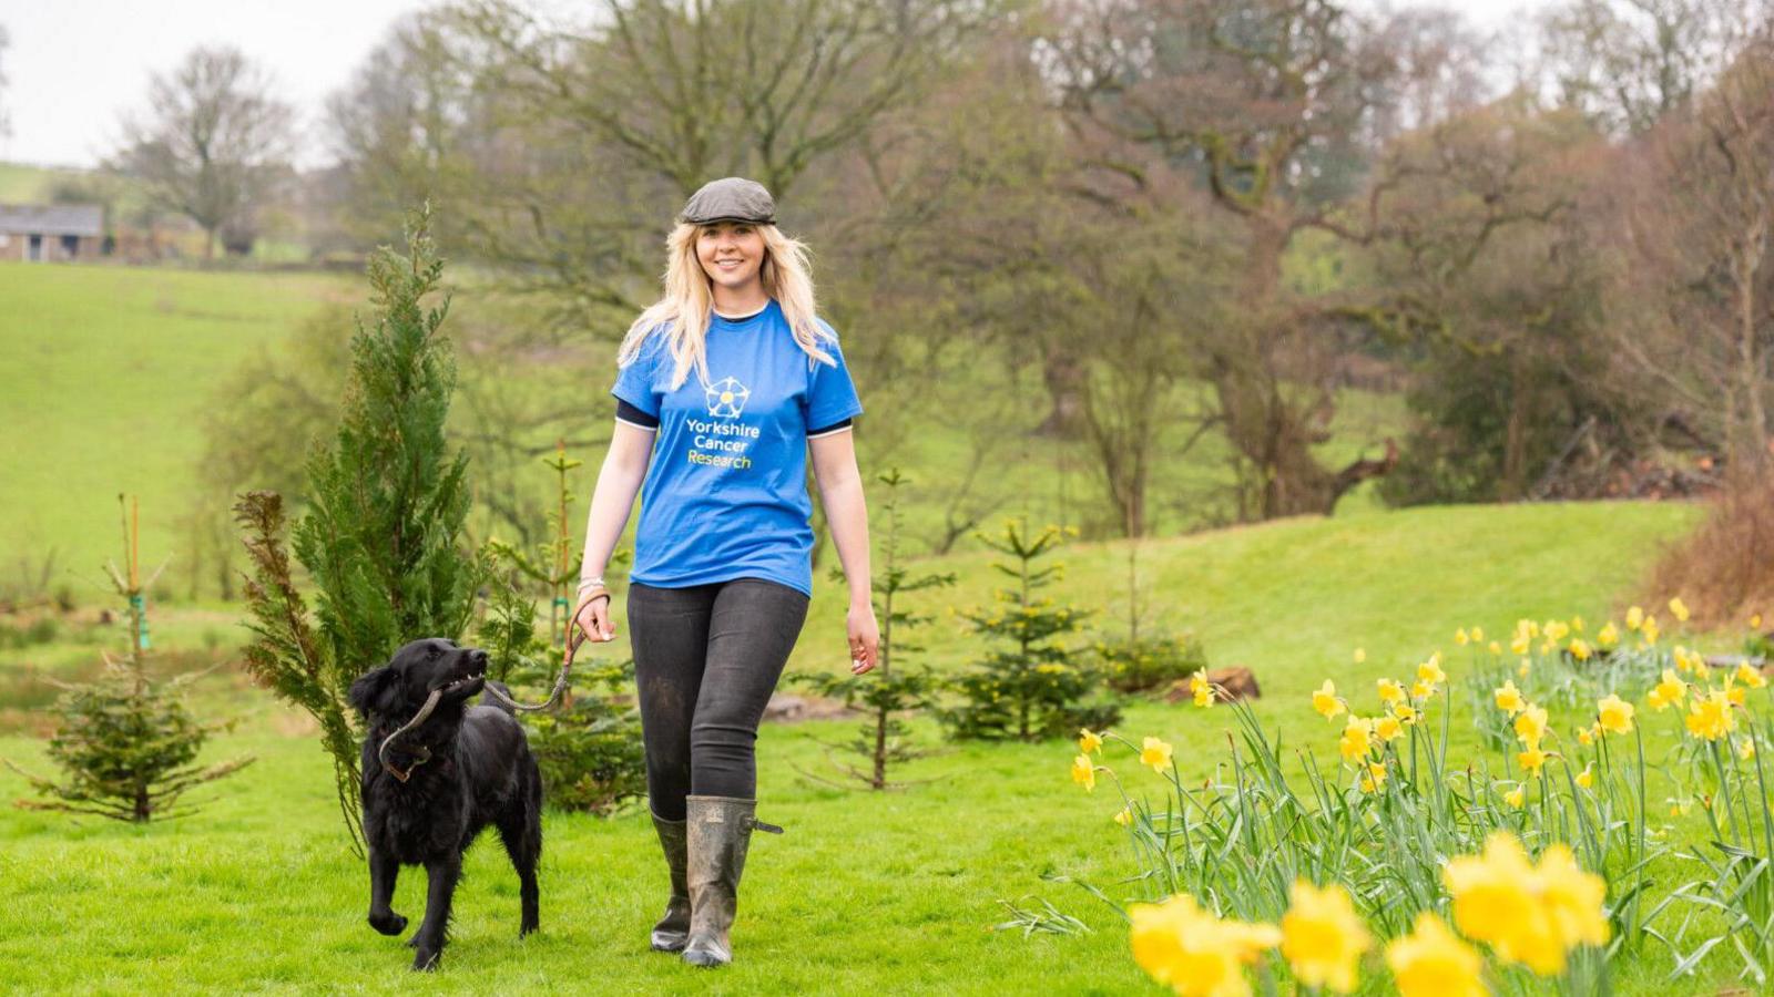
[[[912,612],[903,596],[953,585],[954,573],[912,577],[912,571],[899,562],[899,488],[910,479],[901,475],[899,468],[892,468],[878,481],[887,486],[887,498],[882,502],[887,522],[882,543],[885,564],[873,580],[875,616],[882,626],[880,662],[871,672],[860,676],[814,672],[798,676],[797,681],[821,695],[843,699],[844,706],[852,710],[859,706],[864,710],[867,718],[859,727],[857,738],[839,747],[862,756],[867,768],[839,765],[839,770],[866,782],[871,789],[891,789],[898,784],[887,779],[889,765],[901,765],[930,754],[910,743],[910,731],[903,717],[933,706],[937,692],[937,679],[930,669],[912,665],[907,660],[924,649],[912,644],[910,632],[928,624],[935,616]],[[841,578],[843,571],[837,569],[832,575]]]

